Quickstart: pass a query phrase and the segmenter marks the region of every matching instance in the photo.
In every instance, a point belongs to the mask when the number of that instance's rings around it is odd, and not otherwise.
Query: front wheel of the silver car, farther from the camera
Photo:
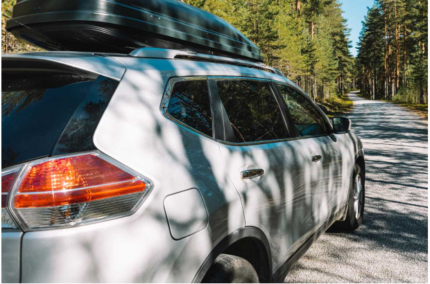
[[[348,196],[346,219],[334,223],[334,227],[343,231],[354,231],[360,227],[363,223],[364,200],[364,174],[360,166],[355,164]]]

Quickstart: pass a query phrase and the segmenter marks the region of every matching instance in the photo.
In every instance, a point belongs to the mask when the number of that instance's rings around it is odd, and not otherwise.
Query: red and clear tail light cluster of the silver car
[[[16,175],[2,177],[2,197]],[[28,229],[127,215],[150,189],[150,181],[98,152],[29,163],[20,176],[11,210]]]

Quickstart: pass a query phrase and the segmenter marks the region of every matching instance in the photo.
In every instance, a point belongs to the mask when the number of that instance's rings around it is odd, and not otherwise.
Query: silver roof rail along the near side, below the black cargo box
[[[268,71],[270,73],[277,73],[275,69],[266,66],[264,63],[250,62],[246,60],[239,60],[230,57],[209,55],[198,53],[192,49],[166,49],[166,48],[155,48],[155,47],[141,47],[136,48],[128,55],[133,57],[147,57],[147,58],[162,58],[162,59],[191,59],[196,61],[215,62],[221,64],[232,64],[238,66],[245,66],[254,69],[260,69]]]

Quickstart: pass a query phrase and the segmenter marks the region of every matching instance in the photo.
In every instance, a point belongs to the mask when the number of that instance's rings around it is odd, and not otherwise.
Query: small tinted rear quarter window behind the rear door
[[[176,82],[167,112],[178,121],[212,137],[212,114],[206,80]]]

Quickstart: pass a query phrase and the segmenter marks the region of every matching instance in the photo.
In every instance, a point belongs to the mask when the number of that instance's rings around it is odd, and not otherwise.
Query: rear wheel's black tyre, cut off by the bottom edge
[[[247,260],[220,254],[202,283],[259,283],[257,272]]]

